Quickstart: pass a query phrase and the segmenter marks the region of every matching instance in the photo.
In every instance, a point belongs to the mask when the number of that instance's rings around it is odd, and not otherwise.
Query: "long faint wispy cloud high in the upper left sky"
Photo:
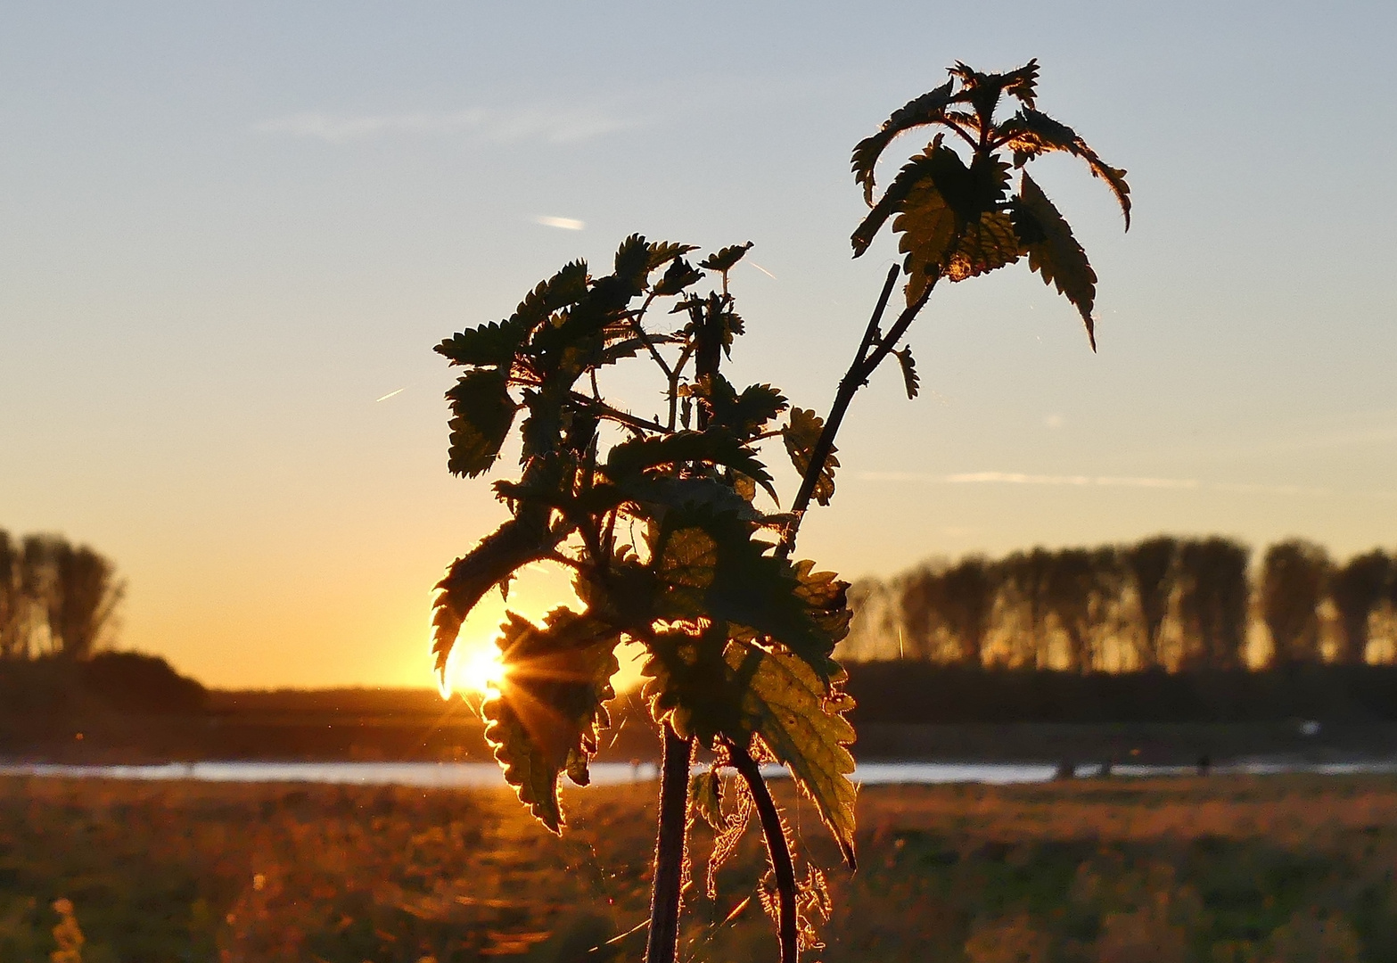
[[[380,137],[471,136],[492,143],[571,144],[634,127],[599,108],[531,106],[513,110],[412,110],[407,113],[292,113],[253,124],[263,134],[307,137],[328,144]]]

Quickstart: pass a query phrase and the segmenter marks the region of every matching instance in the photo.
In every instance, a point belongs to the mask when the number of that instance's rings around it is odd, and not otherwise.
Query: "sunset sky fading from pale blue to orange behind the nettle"
[[[731,377],[823,411],[895,259],[849,259],[851,147],[956,60],[1038,57],[1133,189],[1123,233],[1035,165],[1099,352],[1023,264],[937,291],[923,396],[858,397],[798,555],[1397,546],[1393,36],[1389,3],[10,0],[0,527],[112,558],[120,644],[207,683],[429,685],[432,586],[502,519],[446,470],[433,345],[631,232],[752,240]]]

